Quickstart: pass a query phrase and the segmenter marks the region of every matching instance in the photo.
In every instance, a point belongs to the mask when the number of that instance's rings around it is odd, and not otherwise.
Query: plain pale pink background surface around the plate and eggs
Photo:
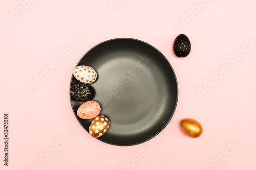
[[[0,6],[1,140],[5,112],[10,123],[9,166],[3,165],[1,142],[1,169],[256,168],[255,1],[47,0],[24,6],[17,0]],[[177,22],[183,27],[177,29]],[[181,33],[191,42],[186,58],[172,50]],[[87,38],[59,58],[76,34]],[[75,118],[68,92],[80,58],[94,45],[118,37],[155,46],[173,66],[179,84],[177,109],[166,129],[132,147],[92,138]],[[229,57],[236,53],[241,57]],[[52,62],[56,68],[30,91],[27,84]],[[220,73],[223,66],[226,71]],[[199,88],[205,90],[201,95]],[[183,118],[201,123],[201,137],[181,132]],[[62,139],[66,143],[59,143]]]

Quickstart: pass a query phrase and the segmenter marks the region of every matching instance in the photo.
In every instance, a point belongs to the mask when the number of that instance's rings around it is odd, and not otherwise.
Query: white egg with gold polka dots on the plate
[[[97,79],[97,72],[87,65],[79,65],[73,69],[73,75],[81,83],[91,84]]]

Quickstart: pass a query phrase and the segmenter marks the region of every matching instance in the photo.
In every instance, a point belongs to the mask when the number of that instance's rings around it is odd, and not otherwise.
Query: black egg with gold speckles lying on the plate
[[[89,84],[78,83],[70,87],[71,95],[79,101],[90,101],[94,96],[94,89]]]

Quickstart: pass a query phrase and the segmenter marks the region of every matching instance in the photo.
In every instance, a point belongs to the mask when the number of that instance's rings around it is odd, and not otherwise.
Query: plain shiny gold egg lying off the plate
[[[184,118],[180,122],[182,131],[189,137],[197,138],[203,133],[202,125],[197,120]]]

